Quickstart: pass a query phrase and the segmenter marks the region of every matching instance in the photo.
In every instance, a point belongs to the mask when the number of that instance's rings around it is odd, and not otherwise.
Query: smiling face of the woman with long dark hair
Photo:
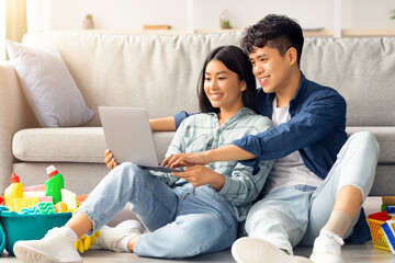
[[[237,112],[242,104],[242,91],[246,82],[219,60],[211,60],[205,69],[204,92],[213,107]]]

